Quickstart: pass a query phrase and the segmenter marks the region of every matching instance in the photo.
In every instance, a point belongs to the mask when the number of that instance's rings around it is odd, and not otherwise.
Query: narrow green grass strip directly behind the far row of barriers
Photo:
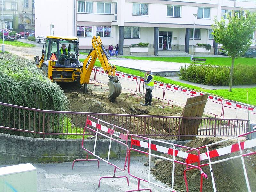
[[[81,59],[80,61],[84,61],[84,60]],[[101,67],[100,62],[96,61],[95,66],[96,67]],[[121,71],[123,73],[144,77],[144,73],[140,74],[139,70],[129,69],[129,68],[121,67],[121,66],[116,66],[116,67],[117,67],[118,71]],[[160,76],[154,76],[154,77],[155,77],[156,81],[160,81],[160,82],[163,82],[163,83],[169,83],[169,84],[174,84],[174,85],[177,85],[177,86],[187,87],[187,88],[190,88],[190,89],[196,89],[196,90],[203,91],[203,92],[208,92],[208,93],[211,93],[211,94],[214,94],[214,95],[219,95],[220,97],[223,97],[225,99],[235,100],[235,101],[247,103],[247,104],[250,104],[250,105],[256,105],[256,97],[255,97],[256,87],[254,87],[254,88],[244,88],[244,89],[242,89],[242,88],[233,88],[232,92],[229,92],[228,89],[219,89],[219,90],[202,89],[200,87],[196,87],[196,86],[193,86],[193,85],[180,83],[178,81],[173,81],[173,80],[167,79],[165,77],[160,77]],[[247,90],[248,90],[248,102],[247,102]]]

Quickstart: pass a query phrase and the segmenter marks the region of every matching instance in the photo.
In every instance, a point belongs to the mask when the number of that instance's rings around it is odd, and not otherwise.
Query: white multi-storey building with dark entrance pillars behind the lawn
[[[102,38],[105,47],[109,44],[119,44],[119,52],[125,55],[156,55],[159,50],[163,50],[164,45],[166,50],[191,53],[192,44],[197,43],[210,44],[212,48],[203,50],[196,47],[195,54],[214,54],[214,52],[216,54],[218,45],[214,42],[211,33],[214,19],[220,20],[222,17],[227,19],[228,15],[241,16],[246,14],[245,11],[256,11],[256,0],[64,1],[67,1],[67,4],[60,8],[61,12],[58,15],[61,15],[63,10],[66,12],[67,23],[72,23],[69,25],[69,28],[73,27],[72,30],[62,30],[67,24],[64,21],[57,23],[59,16],[52,18],[50,24],[47,19],[37,18],[36,15],[36,20],[41,22],[40,25],[44,23],[47,26],[47,30],[44,31],[42,27],[37,27],[36,22],[36,36],[50,35],[48,26],[54,23],[54,30],[56,28],[59,30],[56,35],[79,36],[79,48],[82,50],[90,49],[91,38],[97,35]],[[72,18],[71,15],[74,17]],[[251,46],[254,49],[255,38],[254,33]],[[134,47],[134,44],[140,42],[149,43],[149,46]]]

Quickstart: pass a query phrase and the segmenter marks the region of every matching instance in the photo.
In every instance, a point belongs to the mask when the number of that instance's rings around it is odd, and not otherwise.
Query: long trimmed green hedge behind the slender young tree
[[[180,79],[205,85],[229,85],[230,67],[191,64],[180,67]],[[234,66],[233,85],[256,84],[256,64]]]

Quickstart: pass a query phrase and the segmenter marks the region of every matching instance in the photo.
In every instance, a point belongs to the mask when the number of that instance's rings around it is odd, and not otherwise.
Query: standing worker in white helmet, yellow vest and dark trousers
[[[146,89],[146,96],[145,96],[145,104],[144,106],[151,105],[152,102],[152,90],[154,89],[154,75],[151,70],[146,71],[145,73],[145,89]]]

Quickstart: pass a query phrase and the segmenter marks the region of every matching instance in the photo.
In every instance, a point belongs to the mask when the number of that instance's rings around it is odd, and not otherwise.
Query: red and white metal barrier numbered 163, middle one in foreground
[[[139,139],[143,139],[139,140]],[[154,144],[153,144],[154,142]],[[177,150],[176,148],[185,148],[185,149],[189,149],[193,152],[196,153],[190,153],[190,152],[183,152],[181,150]],[[130,153],[131,151],[133,152],[138,152],[138,153],[142,153],[145,155],[148,155],[148,174],[145,175],[145,178],[140,178],[138,176],[136,176],[136,170],[132,170],[131,167],[131,159],[130,159]],[[157,154],[158,153],[158,154]],[[163,154],[169,154],[171,155],[173,158],[167,158],[167,157],[163,157],[160,156],[159,153],[163,153]],[[157,158],[160,159],[164,159],[164,160],[168,160],[171,161],[173,164],[172,166],[172,187],[171,188],[167,188],[165,186],[159,185],[153,181],[150,180],[150,171],[151,171],[151,156],[155,156]],[[165,142],[165,141],[160,141],[160,140],[156,140],[156,139],[150,139],[150,138],[146,138],[146,137],[141,137],[138,135],[131,135],[131,148],[129,149],[129,158],[128,158],[128,173],[129,175],[131,175],[132,177],[138,179],[138,190],[130,190],[130,191],[126,191],[126,192],[131,192],[131,191],[144,191],[144,190],[150,190],[151,189],[140,189],[140,180],[154,184],[158,187],[164,188],[166,190],[175,192],[175,190],[173,189],[174,187],[174,172],[175,172],[175,163],[179,163],[179,164],[183,164],[183,165],[187,165],[187,166],[191,166],[193,168],[196,168],[200,171],[200,192],[202,191],[202,182],[203,182],[203,177],[207,178],[207,175],[203,173],[202,169],[199,168],[199,163],[198,165],[191,165],[185,162],[180,162],[175,160],[176,157],[181,157],[184,159],[184,161],[186,159],[194,159],[195,161],[199,162],[199,157],[200,157],[200,153],[198,149],[194,149],[194,148],[189,148],[189,147],[185,147],[185,146],[181,146],[181,145],[177,145],[177,144],[173,144],[173,143],[169,143],[169,142]]]

